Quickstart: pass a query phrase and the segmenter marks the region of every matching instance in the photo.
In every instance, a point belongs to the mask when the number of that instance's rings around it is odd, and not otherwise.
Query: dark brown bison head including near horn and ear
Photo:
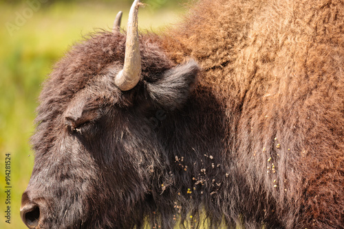
[[[29,228],[143,223],[140,204],[168,160],[156,129],[182,108],[199,68],[192,60],[173,66],[153,36],[138,36],[139,4],[127,36],[117,29],[91,35],[45,83],[21,206]]]

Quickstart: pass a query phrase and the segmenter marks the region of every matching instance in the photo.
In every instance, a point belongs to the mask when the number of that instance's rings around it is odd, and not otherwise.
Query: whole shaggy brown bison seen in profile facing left
[[[43,86],[29,228],[343,228],[344,2],[118,14]]]

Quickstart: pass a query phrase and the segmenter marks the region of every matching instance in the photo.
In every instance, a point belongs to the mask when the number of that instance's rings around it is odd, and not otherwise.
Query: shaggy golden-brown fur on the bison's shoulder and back
[[[344,225],[343,19],[336,0],[205,0],[162,40],[224,101],[246,204],[267,191],[286,228]]]

